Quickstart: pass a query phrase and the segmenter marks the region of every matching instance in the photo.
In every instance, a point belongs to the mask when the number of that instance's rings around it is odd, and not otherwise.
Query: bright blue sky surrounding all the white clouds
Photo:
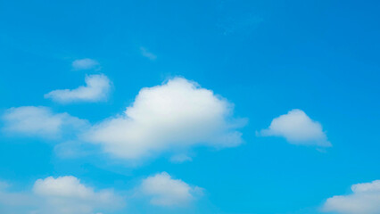
[[[37,179],[72,176],[95,192],[112,188],[125,201],[89,214],[323,213],[326,199],[380,179],[379,38],[378,1],[1,0],[2,115],[45,106],[93,126],[122,115],[142,88],[179,77],[223,97],[234,106],[233,119],[246,121],[236,129],[242,144],[194,145],[186,149],[192,161],[178,163],[169,161],[169,150],[131,162],[75,140],[80,154],[62,157],[57,145],[74,134],[11,133],[3,119],[0,181],[10,184],[3,193],[33,194]],[[81,59],[96,65],[75,69]],[[101,73],[111,82],[106,101],[44,97]],[[332,146],[260,136],[294,109],[318,121]],[[202,195],[170,207],[136,193],[142,179],[161,172],[202,187]],[[45,205],[2,202],[1,189],[0,212],[45,214],[31,212]]]

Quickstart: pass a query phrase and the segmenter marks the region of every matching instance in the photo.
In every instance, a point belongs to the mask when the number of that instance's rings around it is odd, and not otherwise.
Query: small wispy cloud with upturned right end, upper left
[[[58,103],[99,102],[106,101],[111,89],[111,81],[103,74],[89,75],[85,78],[86,86],[76,89],[54,90],[45,95]]]

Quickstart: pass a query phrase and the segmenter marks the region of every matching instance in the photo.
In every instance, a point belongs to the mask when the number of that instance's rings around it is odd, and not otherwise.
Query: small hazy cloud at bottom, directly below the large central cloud
[[[140,191],[150,197],[153,205],[158,206],[184,206],[202,195],[202,188],[173,179],[166,172],[145,178]]]

